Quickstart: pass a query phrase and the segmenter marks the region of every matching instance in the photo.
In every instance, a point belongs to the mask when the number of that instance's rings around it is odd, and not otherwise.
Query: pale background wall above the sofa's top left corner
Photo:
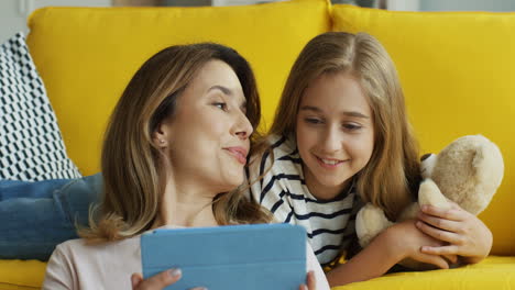
[[[47,5],[110,7],[111,0],[0,0],[0,43],[20,31],[26,35],[26,18],[35,9]]]

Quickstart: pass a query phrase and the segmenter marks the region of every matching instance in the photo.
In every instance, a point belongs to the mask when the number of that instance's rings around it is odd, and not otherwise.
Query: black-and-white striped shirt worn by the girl
[[[355,238],[359,198],[354,186],[332,200],[317,200],[306,186],[295,141],[271,136],[270,142],[273,157],[270,150],[262,153],[248,169],[251,182],[264,175],[251,185],[252,198],[278,222],[303,225],[318,261],[328,266]]]

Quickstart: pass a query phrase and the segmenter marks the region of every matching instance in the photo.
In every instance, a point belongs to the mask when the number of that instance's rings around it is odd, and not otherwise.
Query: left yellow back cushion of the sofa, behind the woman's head
[[[83,175],[99,171],[102,133],[125,85],[160,49],[194,42],[234,47],[255,70],[265,121],[303,46],[330,29],[325,0],[246,7],[44,8],[28,44]]]

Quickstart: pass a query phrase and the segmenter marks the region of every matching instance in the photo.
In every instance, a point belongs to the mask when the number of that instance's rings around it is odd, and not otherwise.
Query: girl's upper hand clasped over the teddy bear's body
[[[478,216],[461,209],[454,202],[442,210],[424,205],[418,214],[417,227],[425,234],[446,242],[442,246],[424,246],[421,252],[432,255],[460,255],[465,263],[478,263],[486,257],[492,248],[490,228]]]

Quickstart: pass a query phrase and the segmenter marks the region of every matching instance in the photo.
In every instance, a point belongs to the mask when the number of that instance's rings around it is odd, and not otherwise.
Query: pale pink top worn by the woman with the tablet
[[[131,275],[142,272],[140,236],[101,245],[85,242],[78,238],[57,246],[46,267],[43,289],[131,289]],[[306,248],[307,270],[315,271],[317,290],[329,290],[309,244]]]

